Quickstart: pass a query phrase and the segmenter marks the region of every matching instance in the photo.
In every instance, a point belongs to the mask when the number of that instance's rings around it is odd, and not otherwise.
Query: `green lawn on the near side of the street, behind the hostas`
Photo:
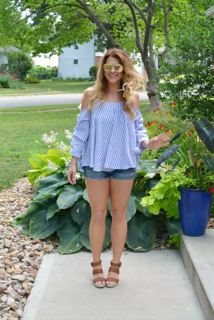
[[[13,185],[15,179],[26,176],[26,171],[33,169],[28,157],[32,153],[47,153],[47,144],[42,140],[44,133],[49,133],[53,130],[58,132],[58,140],[63,141],[70,146],[70,140],[65,137],[64,129],[68,129],[73,133],[76,125],[76,116],[80,112],[75,110],[62,111],[47,111],[36,112],[41,109],[58,109],[66,108],[68,105],[54,105],[43,107],[28,107],[28,108],[13,108],[13,111],[23,111],[22,113],[2,113],[0,116],[1,127],[1,144],[0,144],[0,190]],[[69,107],[77,107],[78,104],[69,105]],[[165,110],[168,108],[164,105]],[[2,110],[2,109],[1,109]],[[12,111],[11,108],[7,109]],[[149,104],[141,105],[141,114],[144,118],[144,123],[152,121],[150,115]],[[31,112],[29,112],[31,111]],[[159,114],[155,114],[160,123]],[[163,120],[167,123],[168,115],[162,114]],[[166,124],[165,123],[165,124]],[[38,140],[39,145],[35,143]],[[54,149],[52,147],[51,149]]]

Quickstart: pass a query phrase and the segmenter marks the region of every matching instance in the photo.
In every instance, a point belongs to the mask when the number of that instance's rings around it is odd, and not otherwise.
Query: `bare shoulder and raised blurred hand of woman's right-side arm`
[[[134,91],[134,97],[135,97],[135,106],[140,111],[140,98],[139,98],[138,92]],[[147,131],[145,130],[144,134],[146,132]],[[156,150],[161,147],[168,146],[169,145],[169,142],[167,142],[168,140],[170,140],[170,138],[165,132],[160,133],[156,137],[151,138],[150,140],[147,140],[147,139],[142,140],[141,147],[145,149]]]

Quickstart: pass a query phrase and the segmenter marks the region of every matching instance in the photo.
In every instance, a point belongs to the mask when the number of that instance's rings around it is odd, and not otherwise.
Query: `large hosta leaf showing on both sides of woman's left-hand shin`
[[[106,218],[106,233],[103,242],[102,250],[105,249],[111,242],[111,219]],[[91,250],[89,237],[90,218],[86,219],[81,227],[81,243],[89,250]]]

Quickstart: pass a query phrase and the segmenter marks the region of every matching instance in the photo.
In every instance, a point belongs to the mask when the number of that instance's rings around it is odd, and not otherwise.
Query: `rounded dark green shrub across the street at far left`
[[[1,68],[8,73],[18,73],[19,79],[24,79],[29,70],[33,66],[33,60],[21,51],[10,51],[7,58],[7,63]]]

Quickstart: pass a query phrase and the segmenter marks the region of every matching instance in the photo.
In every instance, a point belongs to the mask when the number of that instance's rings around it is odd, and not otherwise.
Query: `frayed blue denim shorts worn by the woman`
[[[94,171],[93,168],[89,166],[83,166],[84,177],[87,179],[93,180],[102,180],[102,179],[132,179],[136,176],[135,168],[129,169],[115,169],[113,171]]]

